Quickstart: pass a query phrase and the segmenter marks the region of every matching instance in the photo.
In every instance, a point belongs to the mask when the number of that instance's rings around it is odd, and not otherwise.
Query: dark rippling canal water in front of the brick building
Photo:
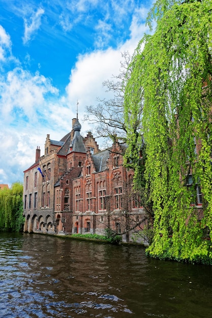
[[[138,246],[4,233],[0,317],[212,317],[212,269]]]

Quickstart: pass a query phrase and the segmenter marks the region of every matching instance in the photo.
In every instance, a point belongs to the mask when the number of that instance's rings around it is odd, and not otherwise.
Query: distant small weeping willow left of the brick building
[[[23,227],[23,185],[13,183],[10,189],[0,190],[0,229],[20,231]]]

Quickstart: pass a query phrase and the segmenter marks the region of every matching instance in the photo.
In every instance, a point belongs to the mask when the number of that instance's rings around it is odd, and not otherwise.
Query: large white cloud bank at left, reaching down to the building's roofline
[[[0,183],[22,181],[23,170],[35,162],[36,148],[44,145],[46,135],[57,139],[58,129],[60,138],[67,133],[68,125],[64,128],[59,116],[52,118],[51,100],[61,112],[63,105],[48,78],[20,67],[0,78],[0,96]]]

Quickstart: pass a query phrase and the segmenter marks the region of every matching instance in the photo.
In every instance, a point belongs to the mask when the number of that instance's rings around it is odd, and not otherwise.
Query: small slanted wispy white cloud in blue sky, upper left
[[[44,14],[44,10],[39,8],[33,15],[27,20],[24,18],[24,37],[23,43],[26,44],[29,40],[31,40],[35,31],[37,31],[41,25],[41,17]]]

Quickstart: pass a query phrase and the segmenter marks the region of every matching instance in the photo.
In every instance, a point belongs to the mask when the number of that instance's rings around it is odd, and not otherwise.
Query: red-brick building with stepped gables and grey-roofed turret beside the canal
[[[123,166],[125,145],[100,151],[93,135],[83,138],[80,130],[75,118],[60,141],[47,135],[44,155],[36,149],[35,163],[24,171],[24,231],[104,235],[109,227],[132,239],[144,210],[132,193],[133,171]]]

